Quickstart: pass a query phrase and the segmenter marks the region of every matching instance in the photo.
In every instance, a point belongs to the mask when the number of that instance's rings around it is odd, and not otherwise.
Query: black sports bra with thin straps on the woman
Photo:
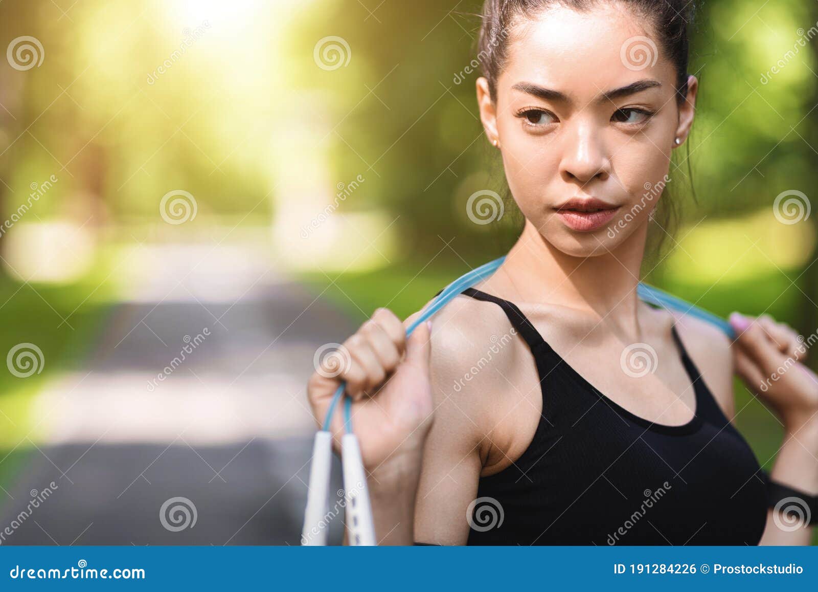
[[[542,415],[528,449],[479,480],[469,545],[757,545],[766,484],[676,332],[696,409],[690,422],[651,423],[597,391],[519,308],[500,305],[531,349]]]

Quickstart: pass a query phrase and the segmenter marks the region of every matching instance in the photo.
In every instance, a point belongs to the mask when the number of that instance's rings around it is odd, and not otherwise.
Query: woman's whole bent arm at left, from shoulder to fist
[[[510,374],[502,365],[510,356],[501,355],[463,380],[464,368],[477,363],[508,324],[499,308],[483,306],[476,314],[476,305],[452,301],[435,316],[432,339],[426,325],[405,338],[416,314],[401,323],[389,310],[377,310],[332,360],[342,367],[318,368],[310,379],[319,423],[339,382],[347,382],[379,545],[455,545],[468,538],[466,508],[488,450],[487,401],[497,395],[486,379]],[[341,414],[331,425],[336,451]]]

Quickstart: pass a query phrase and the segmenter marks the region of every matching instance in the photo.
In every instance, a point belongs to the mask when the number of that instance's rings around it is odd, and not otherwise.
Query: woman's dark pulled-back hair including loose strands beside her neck
[[[492,101],[497,102],[497,78],[506,65],[507,46],[511,30],[518,19],[533,18],[548,7],[562,6],[575,11],[590,11],[604,4],[620,2],[637,15],[644,16],[654,26],[658,36],[658,47],[671,61],[676,70],[676,102],[681,104],[687,96],[687,66],[690,54],[689,30],[695,16],[695,0],[485,0],[483,2],[482,24],[478,38],[479,62],[483,76],[488,80],[488,89]],[[644,47],[644,46],[643,46]],[[625,48],[623,48],[624,51]],[[638,51],[638,49],[636,50]],[[690,173],[690,190],[695,201],[692,171],[690,170],[690,142],[686,142],[688,151],[688,172]],[[667,190],[665,190],[667,194]],[[515,211],[515,201],[506,187],[504,198],[506,206]],[[645,253],[653,254],[651,259],[658,261],[665,237],[666,228],[675,226],[680,219],[676,200],[662,200],[665,205],[657,210],[656,222],[661,232],[649,237],[653,243]],[[516,228],[522,230],[524,216],[518,211],[515,216]],[[646,257],[645,260],[648,260]]]

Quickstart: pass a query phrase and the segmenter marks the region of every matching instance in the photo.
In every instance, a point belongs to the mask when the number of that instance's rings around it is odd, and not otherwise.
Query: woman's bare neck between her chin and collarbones
[[[646,236],[642,224],[614,251],[576,257],[556,249],[526,220],[497,280],[506,278],[526,302],[587,310],[624,334],[640,336],[636,286]]]

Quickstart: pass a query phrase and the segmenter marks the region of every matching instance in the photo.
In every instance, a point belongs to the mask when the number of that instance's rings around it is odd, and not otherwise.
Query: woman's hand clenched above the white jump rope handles
[[[307,385],[312,414],[321,426],[340,382],[347,382],[346,393],[353,399],[353,432],[370,472],[393,463],[404,472],[407,462],[420,470],[433,405],[429,326],[420,323],[406,337],[417,314],[402,323],[390,310],[375,310],[338,350],[321,360]],[[343,407],[341,400],[330,425],[336,451],[344,434]]]

